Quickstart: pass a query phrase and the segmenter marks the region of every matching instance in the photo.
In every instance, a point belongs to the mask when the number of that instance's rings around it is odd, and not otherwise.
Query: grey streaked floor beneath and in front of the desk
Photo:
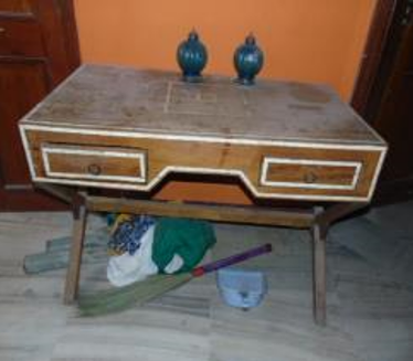
[[[91,217],[89,232],[104,226]],[[214,276],[145,307],[81,318],[61,302],[64,270],[25,275],[25,255],[70,234],[67,213],[0,214],[0,360],[413,360],[413,202],[333,226],[328,241],[328,325],[311,317],[307,232],[215,225],[218,258],[272,242],[245,268],[269,291],[250,311],[225,306]],[[96,261],[96,259],[95,259]],[[82,268],[82,293],[105,287],[105,261]]]

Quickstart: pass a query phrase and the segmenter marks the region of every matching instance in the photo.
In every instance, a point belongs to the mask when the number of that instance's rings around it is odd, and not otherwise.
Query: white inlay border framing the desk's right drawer
[[[279,182],[267,179],[268,167],[271,164],[304,164],[304,166],[322,166],[322,167],[349,167],[354,168],[354,173],[350,184],[329,184],[329,183],[306,183],[306,182]],[[358,161],[338,161],[338,160],[316,160],[316,159],[290,159],[264,157],[263,167],[261,169],[260,183],[268,187],[286,187],[286,188],[305,188],[305,189],[340,189],[354,190],[359,181],[361,171],[361,162]]]

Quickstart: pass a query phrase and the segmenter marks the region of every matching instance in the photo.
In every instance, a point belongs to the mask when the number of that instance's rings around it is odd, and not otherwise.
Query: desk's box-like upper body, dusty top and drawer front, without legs
[[[176,73],[97,65],[81,67],[21,129],[33,180],[141,191],[174,172],[236,177],[258,198],[366,201],[385,152],[325,85],[187,84]],[[77,153],[45,157],[47,147]],[[87,147],[125,157],[87,156]],[[139,169],[130,152],[141,152]]]

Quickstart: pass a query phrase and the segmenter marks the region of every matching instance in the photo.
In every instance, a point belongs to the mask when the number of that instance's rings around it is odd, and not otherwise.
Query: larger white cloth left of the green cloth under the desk
[[[117,287],[127,286],[158,273],[158,266],[152,261],[153,233],[155,225],[145,232],[140,247],[134,255],[126,252],[120,256],[109,258],[107,279],[112,285]]]

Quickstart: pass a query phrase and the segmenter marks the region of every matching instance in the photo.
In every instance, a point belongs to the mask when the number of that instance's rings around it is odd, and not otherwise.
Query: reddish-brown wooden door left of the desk
[[[78,65],[72,0],[0,1],[0,211],[64,208],[35,192],[18,121]]]

